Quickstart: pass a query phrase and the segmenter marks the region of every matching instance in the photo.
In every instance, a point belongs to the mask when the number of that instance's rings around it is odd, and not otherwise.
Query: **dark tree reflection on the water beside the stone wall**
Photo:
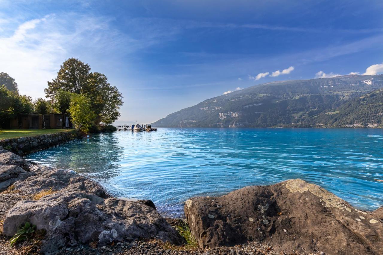
[[[106,180],[118,176],[121,171],[118,161],[122,153],[123,147],[113,133],[96,134],[89,141],[80,140],[68,150],[66,168]]]

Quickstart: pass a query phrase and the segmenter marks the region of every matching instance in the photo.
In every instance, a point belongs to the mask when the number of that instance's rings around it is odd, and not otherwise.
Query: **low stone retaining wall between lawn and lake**
[[[40,136],[27,136],[0,140],[0,147],[10,150],[18,155],[25,155],[39,150],[71,141],[79,137],[75,130],[59,132],[55,134],[44,134]]]

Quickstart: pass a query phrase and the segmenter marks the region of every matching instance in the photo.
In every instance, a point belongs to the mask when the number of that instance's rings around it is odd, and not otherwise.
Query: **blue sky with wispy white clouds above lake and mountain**
[[[0,0],[0,72],[44,97],[76,57],[152,123],[278,80],[383,74],[382,0]]]

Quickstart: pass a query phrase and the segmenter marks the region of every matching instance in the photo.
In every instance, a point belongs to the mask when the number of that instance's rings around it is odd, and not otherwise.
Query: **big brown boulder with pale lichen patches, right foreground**
[[[299,252],[383,254],[381,215],[382,208],[359,211],[300,179],[185,203],[185,216],[201,247],[258,241]]]

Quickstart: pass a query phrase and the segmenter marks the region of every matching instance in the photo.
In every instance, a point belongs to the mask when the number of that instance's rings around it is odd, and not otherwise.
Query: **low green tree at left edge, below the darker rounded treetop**
[[[0,127],[7,128],[9,120],[20,114],[33,112],[32,98],[8,90],[5,85],[0,85]]]

